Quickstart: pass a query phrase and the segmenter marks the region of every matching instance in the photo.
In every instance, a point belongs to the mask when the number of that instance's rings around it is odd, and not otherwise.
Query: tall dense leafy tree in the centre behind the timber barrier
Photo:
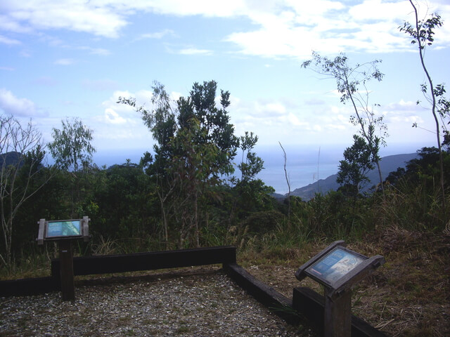
[[[146,154],[146,172],[158,185],[162,220],[167,233],[170,214],[177,220],[179,244],[192,237],[198,246],[202,208],[215,197],[210,187],[233,173],[238,138],[229,122],[229,92],[221,91],[216,106],[217,82],[193,84],[187,98],[173,102],[164,86],[153,86],[153,109],[136,107],[134,98],[120,98],[118,103],[135,107],[150,128],[157,144],[154,159]],[[205,202],[200,202],[205,201]],[[166,234],[167,237],[167,234]]]

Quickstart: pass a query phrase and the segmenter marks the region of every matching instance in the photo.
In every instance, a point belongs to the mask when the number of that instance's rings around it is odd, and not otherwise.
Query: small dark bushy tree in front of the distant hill
[[[366,175],[374,168],[376,159],[373,156],[373,149],[364,138],[354,135],[353,139],[354,144],[344,151],[344,159],[340,161],[336,181],[342,185],[345,192],[356,197],[364,183],[368,182]]]

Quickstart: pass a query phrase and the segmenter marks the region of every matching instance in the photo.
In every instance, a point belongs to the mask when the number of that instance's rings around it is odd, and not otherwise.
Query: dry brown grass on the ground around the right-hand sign
[[[263,282],[292,296],[296,286],[323,289],[294,272],[326,244],[305,244],[284,261],[268,253],[243,254],[248,270]],[[380,254],[386,263],[353,291],[353,312],[389,336],[450,336],[450,236],[390,227],[378,236],[348,247],[366,256]],[[296,260],[294,257],[300,257]]]

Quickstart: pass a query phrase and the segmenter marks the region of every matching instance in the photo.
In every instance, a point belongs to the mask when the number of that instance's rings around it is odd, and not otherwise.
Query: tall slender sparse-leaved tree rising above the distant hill
[[[303,62],[302,67],[314,67],[314,70],[319,74],[334,78],[338,86],[338,92],[341,94],[341,103],[351,103],[354,114],[350,117],[350,121],[353,125],[359,126],[359,133],[366,140],[371,158],[373,158],[378,169],[380,187],[384,191],[378,151],[380,144],[385,145],[387,126],[383,122],[383,116],[377,117],[373,107],[369,106],[368,89],[366,87],[367,82],[371,79],[377,81],[383,79],[384,74],[378,70],[378,64],[381,60],[356,64],[352,67],[348,63],[347,56],[343,53],[340,53],[333,60],[316,52],[313,52],[312,55],[312,60]],[[361,86],[364,88],[362,92],[359,89]],[[380,135],[376,134],[377,128]]]

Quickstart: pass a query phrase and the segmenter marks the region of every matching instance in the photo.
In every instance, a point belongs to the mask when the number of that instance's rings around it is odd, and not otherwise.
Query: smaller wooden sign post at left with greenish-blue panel
[[[58,242],[60,260],[60,282],[63,300],[75,300],[73,275],[72,240],[89,241],[89,217],[75,220],[39,220],[37,244],[47,241]]]

